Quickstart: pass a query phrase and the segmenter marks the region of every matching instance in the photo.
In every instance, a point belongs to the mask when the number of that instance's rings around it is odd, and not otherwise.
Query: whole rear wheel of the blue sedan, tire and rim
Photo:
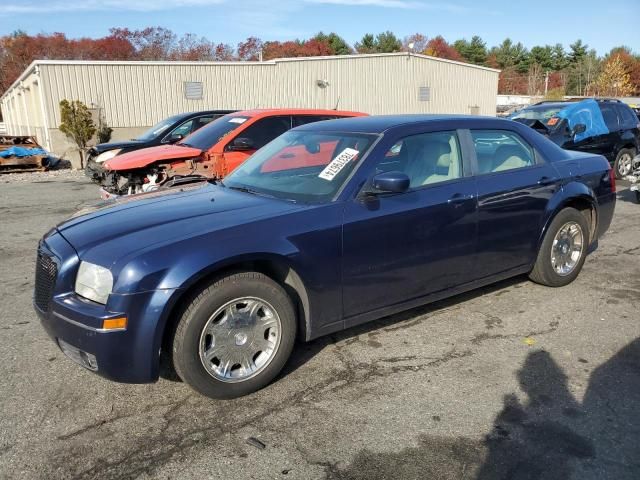
[[[549,225],[529,274],[536,283],[561,287],[580,273],[589,246],[589,222],[575,208],[561,210]]]

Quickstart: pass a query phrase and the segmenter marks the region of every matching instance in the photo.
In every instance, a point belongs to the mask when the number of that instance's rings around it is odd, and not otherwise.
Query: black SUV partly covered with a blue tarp
[[[568,108],[580,111],[590,106],[593,109],[587,111],[593,116],[575,125],[571,125],[572,118],[563,116]],[[634,111],[619,100],[540,102],[515,112],[510,118],[531,126],[567,150],[604,155],[613,165],[617,178],[631,172],[631,159],[640,152],[640,121]],[[588,128],[591,125],[584,123],[590,121],[603,124],[603,128],[591,131]],[[582,128],[585,130],[578,131]]]

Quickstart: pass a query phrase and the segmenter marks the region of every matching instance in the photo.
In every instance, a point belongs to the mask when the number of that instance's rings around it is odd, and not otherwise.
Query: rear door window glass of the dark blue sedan
[[[478,173],[501,172],[535,165],[531,146],[508,130],[471,130]]]

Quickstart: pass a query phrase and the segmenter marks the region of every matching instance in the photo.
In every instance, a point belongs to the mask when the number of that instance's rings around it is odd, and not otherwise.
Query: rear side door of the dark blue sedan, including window
[[[531,265],[559,175],[518,133],[471,130],[478,186],[478,279]]]

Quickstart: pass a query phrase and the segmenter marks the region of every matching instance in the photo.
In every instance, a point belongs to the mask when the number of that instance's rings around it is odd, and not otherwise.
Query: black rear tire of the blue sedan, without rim
[[[573,269],[566,274],[560,274],[553,267],[551,250],[556,234],[570,222],[580,227],[583,238],[582,250]],[[545,233],[542,245],[538,251],[538,258],[536,259],[533,270],[529,274],[529,278],[536,283],[548,287],[562,287],[573,282],[580,273],[587,256],[587,249],[590,243],[589,232],[589,222],[585,216],[575,208],[565,208],[558,212]]]

